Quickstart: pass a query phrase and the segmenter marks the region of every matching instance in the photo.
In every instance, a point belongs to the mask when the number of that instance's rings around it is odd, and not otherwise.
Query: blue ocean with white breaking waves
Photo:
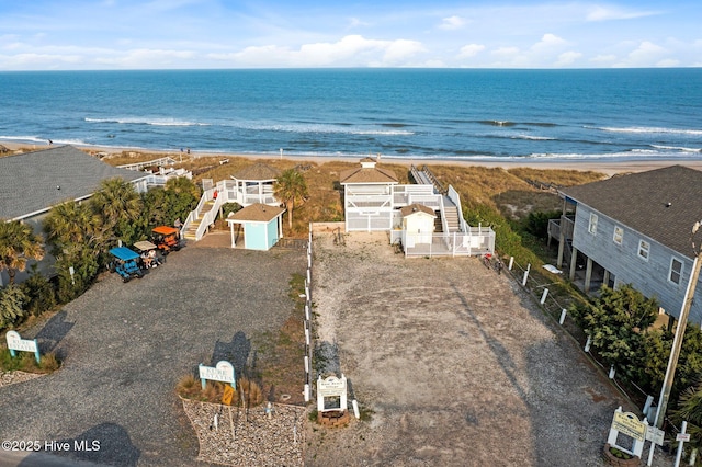
[[[0,72],[0,143],[449,160],[702,157],[702,69]]]

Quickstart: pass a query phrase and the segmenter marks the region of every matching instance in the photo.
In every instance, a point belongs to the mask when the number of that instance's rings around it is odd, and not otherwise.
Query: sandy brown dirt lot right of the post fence
[[[306,464],[601,465],[623,401],[507,276],[405,259],[384,234],[317,235],[314,251],[327,367],[370,421],[310,428]]]

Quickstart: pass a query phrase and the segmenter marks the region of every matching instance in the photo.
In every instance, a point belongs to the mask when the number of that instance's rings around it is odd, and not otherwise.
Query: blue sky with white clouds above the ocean
[[[701,66],[700,0],[0,0],[0,71]]]

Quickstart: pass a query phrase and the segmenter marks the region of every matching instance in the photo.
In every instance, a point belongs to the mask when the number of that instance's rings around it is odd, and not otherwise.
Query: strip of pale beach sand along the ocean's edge
[[[0,141],[2,146],[7,147],[10,150],[18,149],[29,149],[29,150],[42,150],[48,149],[52,146],[42,146],[42,145],[26,145],[26,144],[15,144],[15,143],[4,143]],[[165,151],[165,150],[156,150],[156,149],[134,149],[134,148],[117,148],[117,147],[99,147],[99,146],[78,146],[79,149],[88,150],[91,152],[106,152],[109,155],[112,153],[122,153],[123,151],[134,151],[141,153],[154,153],[154,155],[162,155],[162,156],[180,156],[180,152],[177,150]],[[207,152],[207,151],[197,151],[193,150],[191,152],[193,157],[215,157],[219,159],[226,158],[244,158],[244,159],[279,159],[281,156],[275,153],[237,153],[237,152]],[[375,155],[371,155],[371,157],[375,157]],[[356,162],[359,160],[358,157],[344,157],[344,156],[305,156],[305,155],[287,155],[283,153],[282,159],[293,160],[296,162],[310,162],[310,163],[325,163],[329,161],[343,161],[343,162]],[[532,169],[540,170],[578,170],[578,171],[592,171],[600,172],[607,175],[613,175],[615,173],[626,173],[626,172],[645,172],[648,170],[660,169],[663,167],[669,166],[684,166],[697,170],[702,170],[702,157],[700,159],[690,159],[690,160],[586,160],[578,159],[571,161],[564,160],[533,160],[533,159],[508,159],[499,160],[499,161],[487,161],[487,160],[452,160],[452,159],[426,159],[426,158],[383,158],[381,156],[381,162],[393,163],[399,166],[410,167],[411,164],[416,166],[455,166],[455,167],[488,167],[488,168],[502,168],[502,169],[514,169],[518,167],[528,167]]]

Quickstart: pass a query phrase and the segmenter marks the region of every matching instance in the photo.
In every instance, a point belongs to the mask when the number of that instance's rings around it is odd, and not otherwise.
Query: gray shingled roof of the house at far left
[[[109,166],[72,146],[2,157],[0,218],[21,218],[89,196],[100,182],[115,176],[134,181],[145,174]]]

